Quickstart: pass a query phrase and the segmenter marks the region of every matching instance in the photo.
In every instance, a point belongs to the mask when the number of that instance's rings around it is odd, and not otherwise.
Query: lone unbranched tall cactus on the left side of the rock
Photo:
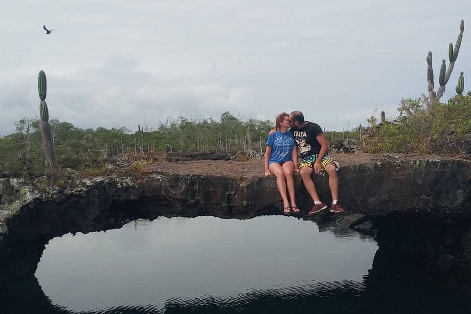
[[[38,78],[38,92],[39,99],[41,100],[39,103],[39,115],[41,117],[39,124],[41,126],[43,149],[46,157],[46,174],[50,178],[51,183],[55,184],[57,183],[58,168],[54,155],[54,142],[52,140],[51,124],[49,123],[48,104],[46,104],[46,91],[46,74],[41,70]]]

